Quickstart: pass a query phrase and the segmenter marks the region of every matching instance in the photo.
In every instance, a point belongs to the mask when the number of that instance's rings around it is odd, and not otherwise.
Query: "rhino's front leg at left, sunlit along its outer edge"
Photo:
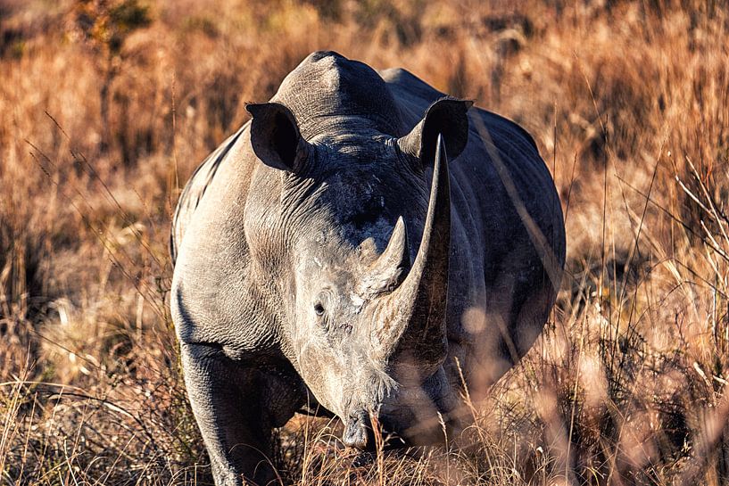
[[[286,373],[241,366],[220,349],[182,344],[187,395],[211,459],[217,486],[276,479],[271,429],[299,405]]]

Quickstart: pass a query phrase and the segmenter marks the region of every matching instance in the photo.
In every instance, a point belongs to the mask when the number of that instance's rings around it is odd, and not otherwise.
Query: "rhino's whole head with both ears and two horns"
[[[285,352],[348,446],[374,446],[373,417],[393,445],[442,441],[451,424],[447,159],[470,105],[442,99],[399,137],[357,119],[305,137],[285,104],[248,105],[263,164],[244,216],[253,265],[280,302]]]

